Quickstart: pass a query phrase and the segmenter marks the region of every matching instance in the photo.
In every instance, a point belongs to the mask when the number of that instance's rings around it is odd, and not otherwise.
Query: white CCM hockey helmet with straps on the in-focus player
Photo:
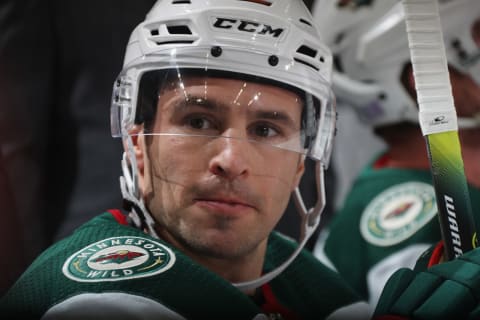
[[[136,223],[156,235],[155,222],[139,194],[129,136],[143,118],[139,97],[144,94],[142,79],[146,75],[173,72],[181,78],[184,72],[197,72],[208,77],[219,72],[222,77],[260,79],[293,88],[303,98],[300,136],[304,143],[301,149],[274,147],[299,152],[317,162],[318,201],[307,209],[300,191],[295,190],[293,196],[302,219],[299,248],[273,272],[237,286],[249,290],[281,272],[317,227],[325,205],[323,171],[328,166],[336,119],[331,91],[332,60],[301,0],[158,1],[130,37],[111,106],[112,135],[126,141],[122,193],[133,206]]]

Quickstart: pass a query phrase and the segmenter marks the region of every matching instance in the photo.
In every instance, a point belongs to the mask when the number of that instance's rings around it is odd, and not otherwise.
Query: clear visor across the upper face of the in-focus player
[[[327,165],[333,101],[331,94],[320,99],[260,76],[208,68],[127,69],[114,89],[112,135],[177,136],[198,144],[244,140]]]

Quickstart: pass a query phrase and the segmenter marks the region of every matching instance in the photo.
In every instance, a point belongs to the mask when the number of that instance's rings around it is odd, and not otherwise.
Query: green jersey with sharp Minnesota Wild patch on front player
[[[273,233],[265,271],[284,262],[295,246]],[[245,295],[113,210],[43,252],[2,298],[0,314],[18,319],[349,319],[344,315],[353,312],[352,319],[368,317],[354,291],[307,251],[261,292],[261,299]]]

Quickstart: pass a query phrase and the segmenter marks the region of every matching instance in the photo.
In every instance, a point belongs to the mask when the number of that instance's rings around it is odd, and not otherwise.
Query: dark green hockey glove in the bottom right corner
[[[424,271],[398,270],[374,319],[480,319],[480,248]]]

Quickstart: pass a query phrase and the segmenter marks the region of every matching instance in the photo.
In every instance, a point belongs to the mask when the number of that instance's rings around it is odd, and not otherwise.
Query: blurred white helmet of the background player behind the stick
[[[333,90],[378,127],[418,123],[418,108],[401,81],[410,62],[404,12],[398,0],[319,0],[312,9],[336,59]],[[480,1],[439,1],[448,63],[480,84]],[[478,31],[476,31],[478,33]],[[477,37],[477,40],[475,40]],[[480,126],[458,119],[460,128]]]

